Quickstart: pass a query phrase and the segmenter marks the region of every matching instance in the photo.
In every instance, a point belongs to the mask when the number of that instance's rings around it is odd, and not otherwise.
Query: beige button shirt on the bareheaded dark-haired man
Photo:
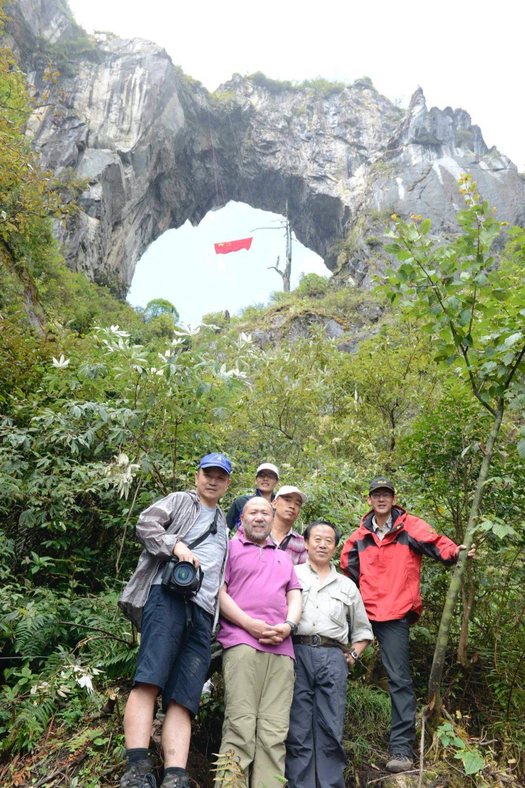
[[[373,640],[357,585],[339,574],[333,563],[330,566],[330,574],[323,582],[308,559],[295,567],[302,585],[302,615],[297,634],[333,637],[345,645]]]

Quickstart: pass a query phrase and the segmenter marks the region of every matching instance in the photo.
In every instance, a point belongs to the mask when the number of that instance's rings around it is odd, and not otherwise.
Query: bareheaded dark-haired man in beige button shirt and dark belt
[[[308,559],[295,567],[302,585],[302,615],[292,637],[295,685],[285,770],[290,788],[345,786],[342,732],[348,666],[374,635],[357,586],[331,561],[339,539],[333,523],[312,522],[305,530]]]

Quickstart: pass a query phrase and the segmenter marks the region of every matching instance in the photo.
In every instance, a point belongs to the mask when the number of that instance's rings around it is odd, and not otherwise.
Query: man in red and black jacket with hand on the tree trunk
[[[412,768],[416,736],[416,697],[409,664],[409,627],[421,614],[421,556],[457,562],[465,545],[440,536],[427,522],[396,505],[396,491],[384,477],[368,491],[370,511],[346,540],[342,571],[360,590],[364,608],[379,642],[392,703],[388,771]],[[475,555],[472,545],[468,557]]]

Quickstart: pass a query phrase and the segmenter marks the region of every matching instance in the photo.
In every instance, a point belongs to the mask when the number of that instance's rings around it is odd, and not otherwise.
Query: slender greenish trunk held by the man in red
[[[460,552],[460,558],[458,559],[452,579],[450,580],[449,590],[446,593],[445,606],[443,608],[441,623],[439,624],[438,637],[434,649],[434,660],[432,662],[431,675],[428,681],[428,703],[432,712],[431,717],[433,720],[438,718],[439,712],[441,711],[441,680],[443,675],[443,667],[445,665],[447,647],[449,645],[450,626],[453,621],[457,595],[460,592],[465,568],[467,566],[467,553],[469,548],[471,548],[472,542],[474,541],[474,532],[478,525],[479,509],[481,507],[485,482],[489,476],[490,461],[494,455],[494,447],[496,445],[497,435],[500,431],[504,407],[505,402],[503,397],[501,397],[492,429],[490,430],[490,437],[486,444],[486,455],[484,455],[481,468],[479,469],[474,499],[472,500],[471,511],[468,517],[467,530],[465,531],[463,539],[463,544],[467,546],[467,549]]]

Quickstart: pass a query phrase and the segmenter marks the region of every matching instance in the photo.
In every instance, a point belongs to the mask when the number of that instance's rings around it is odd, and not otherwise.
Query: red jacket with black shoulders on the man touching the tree
[[[371,621],[402,619],[412,613],[419,619],[421,556],[431,556],[447,566],[456,563],[457,545],[440,536],[419,517],[392,508],[392,529],[383,537],[372,527],[373,511],[346,540],[341,553],[342,571],[357,585]]]

